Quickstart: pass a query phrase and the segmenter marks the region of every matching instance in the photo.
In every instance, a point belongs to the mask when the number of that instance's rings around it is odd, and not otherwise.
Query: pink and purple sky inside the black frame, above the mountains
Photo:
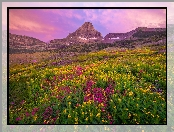
[[[91,22],[103,37],[137,27],[166,27],[164,9],[10,9],[10,33],[42,41],[65,38],[84,22]]]

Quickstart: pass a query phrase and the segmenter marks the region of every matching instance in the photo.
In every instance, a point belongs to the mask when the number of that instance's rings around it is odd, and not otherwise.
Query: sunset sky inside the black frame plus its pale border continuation
[[[168,2],[3,2],[2,30],[7,29],[7,7],[167,7],[168,23],[174,24],[174,3]],[[91,22],[104,37],[137,27],[166,27],[164,9],[10,9],[10,33],[42,41],[65,38],[84,22]]]

